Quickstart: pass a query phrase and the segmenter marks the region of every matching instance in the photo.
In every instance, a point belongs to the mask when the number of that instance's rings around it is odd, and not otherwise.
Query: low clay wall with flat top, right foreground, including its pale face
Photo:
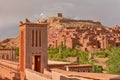
[[[52,80],[120,80],[120,75],[52,69]]]

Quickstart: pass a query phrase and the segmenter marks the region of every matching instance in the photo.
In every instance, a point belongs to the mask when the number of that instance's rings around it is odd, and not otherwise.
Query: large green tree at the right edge
[[[113,47],[109,50],[109,60],[107,61],[108,73],[120,74],[120,47]]]

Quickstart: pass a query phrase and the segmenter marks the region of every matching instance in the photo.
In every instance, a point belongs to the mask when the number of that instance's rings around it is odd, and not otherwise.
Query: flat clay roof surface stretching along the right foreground
[[[52,71],[61,73],[68,77],[81,77],[81,78],[87,78],[87,79],[93,79],[93,80],[120,80],[120,75],[113,75],[113,74],[72,72],[72,71],[65,71],[57,68],[52,69]]]

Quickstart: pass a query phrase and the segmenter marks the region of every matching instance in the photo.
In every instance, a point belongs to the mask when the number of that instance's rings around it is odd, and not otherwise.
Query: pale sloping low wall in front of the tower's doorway
[[[52,80],[51,76],[45,75],[31,69],[25,70],[26,80]]]

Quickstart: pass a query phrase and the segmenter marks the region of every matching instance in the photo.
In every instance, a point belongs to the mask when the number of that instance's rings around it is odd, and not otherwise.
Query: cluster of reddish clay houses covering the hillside
[[[55,33],[54,33],[55,32]],[[83,51],[94,52],[108,45],[120,46],[120,27],[64,27],[48,35],[48,47],[79,45]]]

